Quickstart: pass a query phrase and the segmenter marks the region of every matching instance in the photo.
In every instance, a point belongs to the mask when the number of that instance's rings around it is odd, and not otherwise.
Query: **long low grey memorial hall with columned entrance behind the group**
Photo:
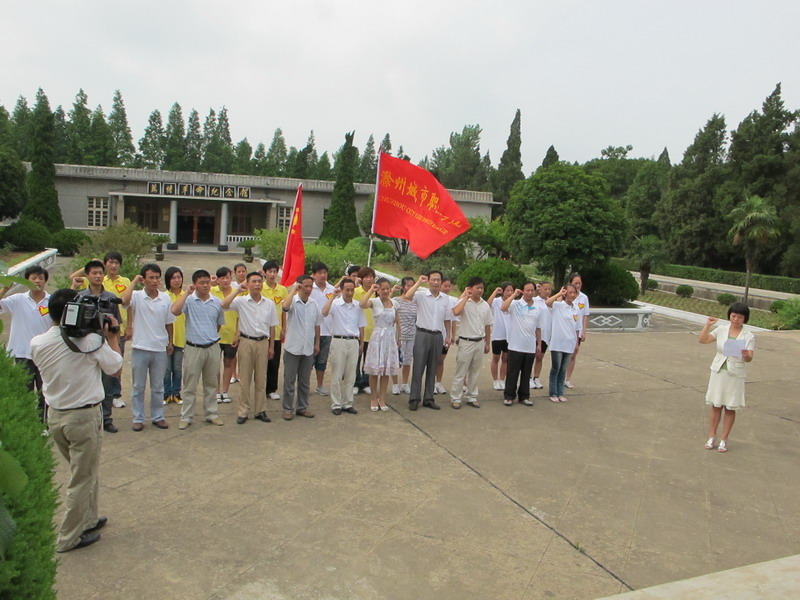
[[[129,220],[169,236],[168,248],[235,249],[256,229],[286,230],[303,184],[303,237],[322,232],[333,181],[284,177],[56,165],[64,226],[91,231]],[[356,183],[356,214],[373,202],[375,185]],[[467,218],[491,219],[492,194],[449,190]]]

